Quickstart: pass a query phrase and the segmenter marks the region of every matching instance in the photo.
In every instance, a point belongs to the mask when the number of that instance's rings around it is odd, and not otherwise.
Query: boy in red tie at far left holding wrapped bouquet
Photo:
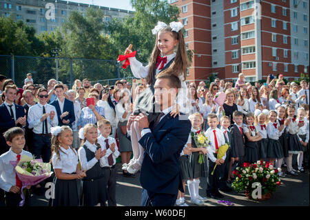
[[[21,128],[10,128],[3,134],[10,150],[0,156],[0,188],[6,195],[6,206],[19,206],[21,201],[22,183],[17,176],[10,161],[19,161],[21,155],[32,157],[32,154],[23,150],[25,146],[25,136]],[[29,189],[30,186],[27,187]],[[25,206],[27,206],[29,194],[25,194]]]

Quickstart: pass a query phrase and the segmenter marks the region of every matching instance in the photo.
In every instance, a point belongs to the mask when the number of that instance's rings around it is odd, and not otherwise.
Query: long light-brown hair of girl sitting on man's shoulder
[[[167,26],[163,29],[161,29],[160,32],[171,32],[172,37],[175,40],[178,40],[178,50],[176,51],[176,57],[174,57],[174,61],[172,64],[167,68],[166,70],[163,70],[163,72],[168,72],[169,74],[174,74],[177,77],[181,74],[183,74],[184,80],[186,79],[186,71],[187,67],[189,66],[189,61],[187,58],[187,52],[185,48],[185,41],[183,36],[183,31],[179,30],[178,32],[172,31],[172,28],[170,26]],[[161,54],[161,50],[157,47],[157,41],[158,41],[158,34],[156,34],[156,41],[155,45],[151,54],[151,57],[149,59],[149,71],[147,73],[147,77],[145,78],[147,83],[149,85],[152,85],[155,83],[153,81],[154,75],[155,75],[155,67],[156,67],[156,61],[158,55]]]

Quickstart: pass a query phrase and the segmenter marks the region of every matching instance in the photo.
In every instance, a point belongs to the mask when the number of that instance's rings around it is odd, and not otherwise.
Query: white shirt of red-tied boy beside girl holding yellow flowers
[[[226,143],[226,141],[225,141],[223,131],[220,130],[219,128],[216,128],[216,129],[208,128],[208,130],[205,132],[205,136],[208,138],[208,140],[211,143],[211,146],[207,146],[207,150],[208,150],[207,154],[208,154],[209,159],[215,163],[217,158],[214,157],[214,153],[216,153],[216,143],[215,143],[215,139],[214,139],[214,131],[213,130],[216,130],[216,140],[218,141],[218,148],[220,146],[223,146]],[[222,159],[225,160],[225,158],[226,158],[226,153],[222,157]]]

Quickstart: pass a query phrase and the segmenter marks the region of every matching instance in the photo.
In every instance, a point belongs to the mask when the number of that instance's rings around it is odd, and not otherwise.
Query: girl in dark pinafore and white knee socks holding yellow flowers
[[[187,180],[187,186],[189,194],[191,196],[191,202],[196,205],[203,205],[204,201],[207,201],[207,198],[200,197],[199,195],[199,183],[200,177],[207,177],[207,159],[205,158],[202,163],[199,163],[200,154],[207,154],[207,148],[198,148],[195,142],[195,135],[203,134],[201,132],[201,125],[203,124],[203,117],[198,112],[191,114],[189,120],[192,123],[192,130],[190,135],[192,136],[192,143],[188,143],[189,148],[191,149],[192,154],[189,157],[189,164],[192,170],[190,170],[190,179]],[[198,136],[197,141],[200,143],[205,142],[203,136]],[[189,141],[190,142],[190,141]],[[203,156],[205,157],[205,156]]]

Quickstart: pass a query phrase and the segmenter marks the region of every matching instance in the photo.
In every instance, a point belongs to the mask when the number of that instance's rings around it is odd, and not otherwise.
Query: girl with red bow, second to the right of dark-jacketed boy
[[[260,151],[260,161],[267,159],[267,146],[268,146],[268,137],[267,137],[267,115],[264,113],[258,114],[256,121],[256,130],[260,132],[262,139],[260,140],[258,146]]]

